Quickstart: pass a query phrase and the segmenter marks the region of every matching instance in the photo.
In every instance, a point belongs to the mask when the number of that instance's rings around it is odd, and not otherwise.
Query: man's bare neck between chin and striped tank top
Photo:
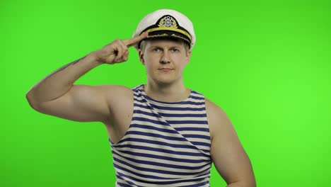
[[[148,81],[144,85],[146,94],[156,101],[180,102],[190,96],[190,89],[187,89],[182,82],[178,84],[157,84]]]

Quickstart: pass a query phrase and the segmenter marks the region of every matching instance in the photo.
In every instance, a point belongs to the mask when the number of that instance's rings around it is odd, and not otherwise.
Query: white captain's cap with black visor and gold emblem
[[[145,16],[134,31],[133,37],[147,32],[149,35],[144,40],[150,39],[180,39],[186,42],[190,49],[195,43],[193,24],[184,14],[170,10],[160,9]],[[139,50],[141,42],[134,45]]]

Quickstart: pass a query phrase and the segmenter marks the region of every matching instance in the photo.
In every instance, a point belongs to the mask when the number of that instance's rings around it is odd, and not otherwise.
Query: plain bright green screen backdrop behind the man
[[[330,185],[330,1],[1,1],[0,186],[114,186],[100,123],[33,111],[25,94],[54,69],[116,38],[146,13],[173,8],[194,23],[185,85],[228,114],[257,186]],[[79,84],[146,82],[137,52]],[[212,170],[211,186],[226,186]]]

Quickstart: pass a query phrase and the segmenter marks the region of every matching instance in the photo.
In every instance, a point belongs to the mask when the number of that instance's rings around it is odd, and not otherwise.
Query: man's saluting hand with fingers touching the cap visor
[[[141,35],[129,38],[127,40],[115,40],[100,50],[95,51],[95,56],[97,62],[101,64],[116,64],[127,61],[129,55],[129,47],[137,44],[144,38],[146,38],[148,33],[142,33]]]

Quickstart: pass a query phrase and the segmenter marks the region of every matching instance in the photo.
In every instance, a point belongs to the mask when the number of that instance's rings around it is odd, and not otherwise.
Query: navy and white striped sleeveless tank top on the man
[[[210,135],[204,96],[181,102],[153,100],[134,89],[134,113],[124,137],[113,144],[115,186],[209,186]]]

